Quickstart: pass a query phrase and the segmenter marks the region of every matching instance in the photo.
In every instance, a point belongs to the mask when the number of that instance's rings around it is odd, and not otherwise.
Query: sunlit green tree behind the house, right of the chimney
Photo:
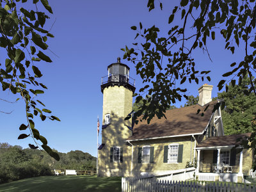
[[[252,78],[254,81],[254,78]],[[255,131],[256,99],[250,90],[250,78],[245,76],[240,85],[228,85],[228,92],[218,93],[218,99],[225,100],[221,111],[225,134],[240,134]]]

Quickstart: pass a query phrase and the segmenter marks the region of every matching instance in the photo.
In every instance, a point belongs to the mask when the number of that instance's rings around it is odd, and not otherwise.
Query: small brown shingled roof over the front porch
[[[221,147],[221,146],[232,146],[240,145],[241,140],[239,138],[246,138],[251,136],[251,132],[243,134],[232,134],[225,136],[218,136],[207,138],[207,140],[202,141],[196,148],[207,148],[207,147]]]

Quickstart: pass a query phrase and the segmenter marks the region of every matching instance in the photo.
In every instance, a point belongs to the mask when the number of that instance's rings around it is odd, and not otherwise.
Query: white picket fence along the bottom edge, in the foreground
[[[151,179],[136,179],[127,180],[125,177],[122,178],[122,192],[180,192],[180,191],[196,191],[196,192],[255,192],[255,185],[248,184],[215,184],[205,182],[189,182],[189,181],[179,181],[174,182],[172,180],[157,180],[156,178]]]

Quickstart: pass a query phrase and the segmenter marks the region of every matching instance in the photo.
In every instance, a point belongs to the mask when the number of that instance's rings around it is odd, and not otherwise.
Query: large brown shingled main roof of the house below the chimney
[[[150,138],[161,138],[168,136],[179,136],[184,134],[200,134],[207,126],[214,104],[218,101],[209,102],[209,108],[204,111],[208,104],[199,104],[178,109],[170,109],[164,113],[166,118],[154,118],[147,124],[146,120],[139,121],[134,125],[133,135],[127,140],[145,140]],[[198,109],[200,113],[196,114]],[[201,116],[204,111],[204,116]]]

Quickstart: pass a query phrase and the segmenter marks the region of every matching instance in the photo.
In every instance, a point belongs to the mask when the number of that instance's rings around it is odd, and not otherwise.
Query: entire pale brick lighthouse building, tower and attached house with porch
[[[161,175],[186,166],[195,166],[197,177],[228,172],[242,178],[248,174],[253,151],[233,147],[250,134],[224,136],[220,105],[211,99],[212,85],[198,89],[198,104],[170,109],[166,118],[154,117],[150,124],[142,121],[132,127],[131,120],[124,121],[132,111],[135,86],[131,80],[129,67],[120,59],[108,66],[106,81],[102,78],[99,176]]]

